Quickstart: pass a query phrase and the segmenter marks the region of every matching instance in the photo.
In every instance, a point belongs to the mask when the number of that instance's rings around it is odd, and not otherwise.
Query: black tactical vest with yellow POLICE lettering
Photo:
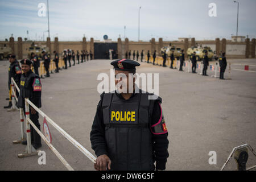
[[[129,100],[104,94],[105,140],[112,170],[154,170],[150,121],[154,100],[137,93]]]

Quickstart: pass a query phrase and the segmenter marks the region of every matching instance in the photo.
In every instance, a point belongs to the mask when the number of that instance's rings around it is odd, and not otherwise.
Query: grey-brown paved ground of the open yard
[[[146,63],[138,69],[138,73],[159,73],[159,94],[170,140],[167,170],[219,170],[233,147],[249,143],[256,149],[256,72],[234,70],[243,69],[243,64],[256,65],[256,59],[228,61],[233,63],[232,80]],[[89,136],[100,99],[97,75],[109,75],[109,63],[110,60],[92,60],[42,80],[44,113],[93,154]],[[39,156],[18,159],[24,146],[12,141],[20,136],[19,113],[3,109],[7,105],[8,67],[7,61],[0,61],[0,170],[66,170],[45,143],[40,149],[46,151],[46,165],[38,164]],[[255,68],[250,67],[252,71]],[[214,72],[208,69],[208,74]],[[94,169],[89,159],[52,126],[50,129],[53,146],[74,169]],[[209,151],[217,152],[216,165],[209,165]],[[253,164],[256,160],[249,153],[248,166]],[[232,160],[227,169],[235,168]]]

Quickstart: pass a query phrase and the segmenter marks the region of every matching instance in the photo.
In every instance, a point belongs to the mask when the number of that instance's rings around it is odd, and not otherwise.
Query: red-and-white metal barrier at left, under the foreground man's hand
[[[11,78],[11,81],[13,82],[13,84],[15,85],[16,89],[18,90],[18,92],[20,92],[18,86],[16,85],[15,81],[13,78]],[[15,92],[13,91],[14,94],[14,98],[18,101],[18,98],[16,97]],[[43,117],[46,118],[46,120],[51,123],[51,125],[53,127],[55,127],[55,129],[57,131],[59,131],[61,133],[61,135],[63,135],[66,139],[69,140],[69,142],[71,142],[76,148],[78,148],[82,154],[84,154],[85,156],[87,156],[93,163],[96,163],[96,157],[91,154],[88,150],[86,150],[86,148],[84,148],[79,142],[77,142],[75,139],[73,139],[67,132],[65,132],[63,129],[61,129],[61,127],[59,125],[57,125],[54,121],[52,121],[51,118],[49,118],[46,114],[43,113],[42,110],[40,110],[38,107],[36,107],[30,100],[28,100],[28,98],[25,98],[25,114],[26,114],[26,135],[27,135],[27,147],[26,147],[26,151],[22,154],[18,154],[18,158],[24,158],[26,156],[32,156],[32,155],[38,155],[38,151],[35,150],[34,147],[32,147],[31,145],[31,135],[30,135],[30,125],[33,127],[33,129],[40,135],[40,137],[44,140],[44,142],[46,142],[46,144],[49,146],[49,148],[51,148],[51,150],[53,151],[53,153],[57,156],[57,158],[60,159],[60,161],[64,164],[64,166],[68,169],[68,170],[73,170],[73,168],[68,164],[68,162],[63,158],[63,156],[60,155],[60,153],[56,150],[55,147],[53,147],[53,145],[51,143],[48,142],[48,140],[46,139],[46,137],[44,137],[44,134],[38,130],[38,128],[34,125],[34,123],[31,121],[30,119],[30,111],[29,108],[33,107],[36,111],[38,111],[38,113]],[[24,121],[24,116],[23,116],[23,109],[20,108],[20,130],[21,130],[21,137],[20,140],[15,140],[13,141],[14,144],[16,143],[21,143],[22,141],[25,140],[24,138],[24,125],[23,125],[23,121]]]

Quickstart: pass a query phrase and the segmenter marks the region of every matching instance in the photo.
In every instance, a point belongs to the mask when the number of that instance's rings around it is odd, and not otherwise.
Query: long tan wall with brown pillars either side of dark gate
[[[195,38],[192,38],[191,41],[188,40],[189,39],[186,38],[186,41],[183,42],[168,42],[164,41],[162,38],[159,38],[158,40],[152,38],[150,42],[133,42],[129,41],[129,39],[126,38],[126,40],[119,39],[118,42],[113,43],[118,43],[119,45],[117,50],[119,58],[125,57],[125,52],[129,50],[131,50],[131,53],[133,53],[134,50],[138,50],[139,53],[144,50],[144,55],[146,55],[148,50],[150,50],[151,54],[154,50],[156,50],[156,53],[159,55],[160,48],[163,46],[168,46],[170,43],[172,44],[172,46],[184,49],[185,52],[187,48],[191,47],[191,45],[201,44],[202,46],[208,46],[212,48],[212,50],[216,51],[217,53],[225,51],[226,57],[228,58],[251,58],[255,57],[256,53],[255,39],[246,39],[246,42],[238,43],[226,39],[220,40],[219,38],[216,38],[215,40],[196,40]],[[27,50],[31,46],[31,43],[32,42],[23,41],[21,38],[19,39],[18,43],[18,40],[10,38],[8,42],[0,42],[0,46],[2,46],[3,44],[7,44],[14,49],[13,52],[15,53],[15,55],[22,54],[22,57],[25,58],[27,57]],[[51,49],[51,55],[53,55],[53,51],[61,53],[63,49],[72,49],[75,52],[77,52],[77,50],[81,52],[81,50],[86,49],[88,52],[92,50],[92,52],[94,53],[93,38],[90,38],[89,41],[85,38],[81,38],[81,41],[79,42],[59,42],[59,40],[55,38],[55,40],[48,39],[47,42],[35,42],[35,44],[49,46]]]

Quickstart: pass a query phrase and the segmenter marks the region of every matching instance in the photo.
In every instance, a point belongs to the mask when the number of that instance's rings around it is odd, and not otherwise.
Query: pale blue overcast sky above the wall
[[[240,0],[238,35],[256,37],[256,1]],[[43,39],[47,31],[47,14],[38,16],[39,3],[47,0],[0,0],[0,39],[13,34],[15,40]],[[209,3],[217,5],[217,16],[210,17]],[[227,38],[236,35],[237,3],[232,0],[49,0],[51,40],[89,40],[124,38],[138,41],[138,12],[141,8],[140,39],[177,40],[195,37],[197,40]],[[44,32],[45,39],[48,32]]]

